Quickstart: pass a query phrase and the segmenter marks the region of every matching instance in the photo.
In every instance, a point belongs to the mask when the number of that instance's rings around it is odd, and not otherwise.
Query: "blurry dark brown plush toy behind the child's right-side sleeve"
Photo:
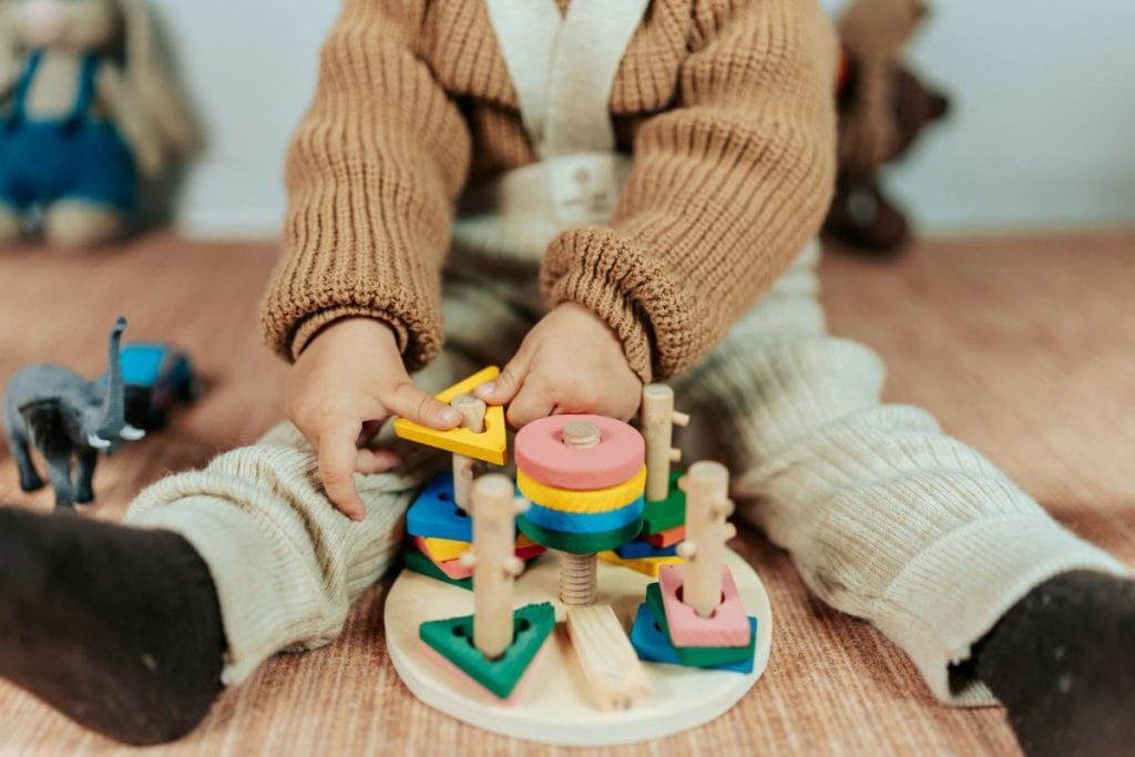
[[[949,110],[942,94],[902,66],[925,15],[918,0],[857,0],[840,20],[839,178],[825,230],[874,254],[897,254],[913,236],[880,173]]]

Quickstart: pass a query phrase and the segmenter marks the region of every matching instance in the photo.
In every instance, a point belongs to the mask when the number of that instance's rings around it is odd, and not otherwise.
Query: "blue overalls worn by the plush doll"
[[[82,200],[126,212],[134,203],[134,158],[118,129],[91,115],[100,57],[83,58],[69,115],[35,119],[27,96],[42,59],[39,50],[28,56],[0,121],[0,203],[23,211]]]

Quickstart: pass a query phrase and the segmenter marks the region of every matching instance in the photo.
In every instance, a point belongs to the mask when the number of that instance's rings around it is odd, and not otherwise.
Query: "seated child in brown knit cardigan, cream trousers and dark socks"
[[[188,732],[335,638],[438,470],[379,428],[453,428],[430,393],[499,362],[477,394],[514,428],[672,382],[688,459],[939,698],[998,697],[1037,754],[1135,738],[1124,566],[825,331],[835,58],[816,0],[346,0],[263,308],[292,422],[121,527],[0,512],[0,675],[123,741]]]

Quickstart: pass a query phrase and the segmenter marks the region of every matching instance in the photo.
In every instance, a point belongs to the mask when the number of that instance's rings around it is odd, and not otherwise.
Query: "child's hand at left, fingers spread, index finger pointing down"
[[[392,415],[447,430],[461,413],[413,385],[390,328],[372,318],[333,322],[295,361],[285,395],[288,419],[319,455],[319,477],[339,512],[367,514],[354,473],[398,464],[385,449],[361,448]]]

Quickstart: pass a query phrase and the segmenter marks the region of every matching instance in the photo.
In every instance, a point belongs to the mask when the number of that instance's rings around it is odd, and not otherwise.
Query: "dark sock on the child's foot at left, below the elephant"
[[[149,745],[201,722],[224,653],[209,569],[180,536],[0,508],[0,676]]]

